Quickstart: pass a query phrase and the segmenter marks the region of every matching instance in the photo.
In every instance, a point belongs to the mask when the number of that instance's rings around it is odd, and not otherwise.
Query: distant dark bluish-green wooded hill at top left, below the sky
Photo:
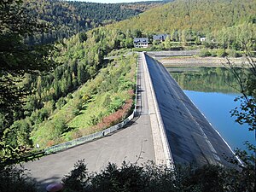
[[[79,1],[25,0],[29,14],[49,22],[54,29],[30,37],[30,44],[45,44],[139,15],[148,9],[169,1],[141,3],[86,3]]]

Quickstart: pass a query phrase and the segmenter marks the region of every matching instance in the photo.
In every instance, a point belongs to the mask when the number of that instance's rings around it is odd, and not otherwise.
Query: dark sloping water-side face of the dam
[[[145,60],[174,163],[230,165],[225,157],[234,154],[224,139],[166,68],[146,54]]]

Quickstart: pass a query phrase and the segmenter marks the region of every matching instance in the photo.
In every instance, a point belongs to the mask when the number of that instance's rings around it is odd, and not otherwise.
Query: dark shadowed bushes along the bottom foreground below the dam
[[[62,181],[65,185],[64,191],[253,192],[253,170],[254,167],[249,165],[241,166],[241,169],[214,165],[176,165],[174,169],[168,169],[166,166],[156,166],[153,162],[138,166],[137,163],[124,161],[121,166],[108,163],[101,172],[89,174],[84,161],[79,161],[71,174]],[[79,180],[82,180],[81,183],[77,183]]]

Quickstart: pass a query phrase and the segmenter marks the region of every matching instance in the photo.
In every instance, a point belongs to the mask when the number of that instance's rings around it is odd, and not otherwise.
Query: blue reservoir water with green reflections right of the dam
[[[230,148],[246,149],[244,142],[255,144],[254,131],[235,123],[230,110],[239,106],[236,80],[224,67],[167,68],[195,106],[200,109]]]

